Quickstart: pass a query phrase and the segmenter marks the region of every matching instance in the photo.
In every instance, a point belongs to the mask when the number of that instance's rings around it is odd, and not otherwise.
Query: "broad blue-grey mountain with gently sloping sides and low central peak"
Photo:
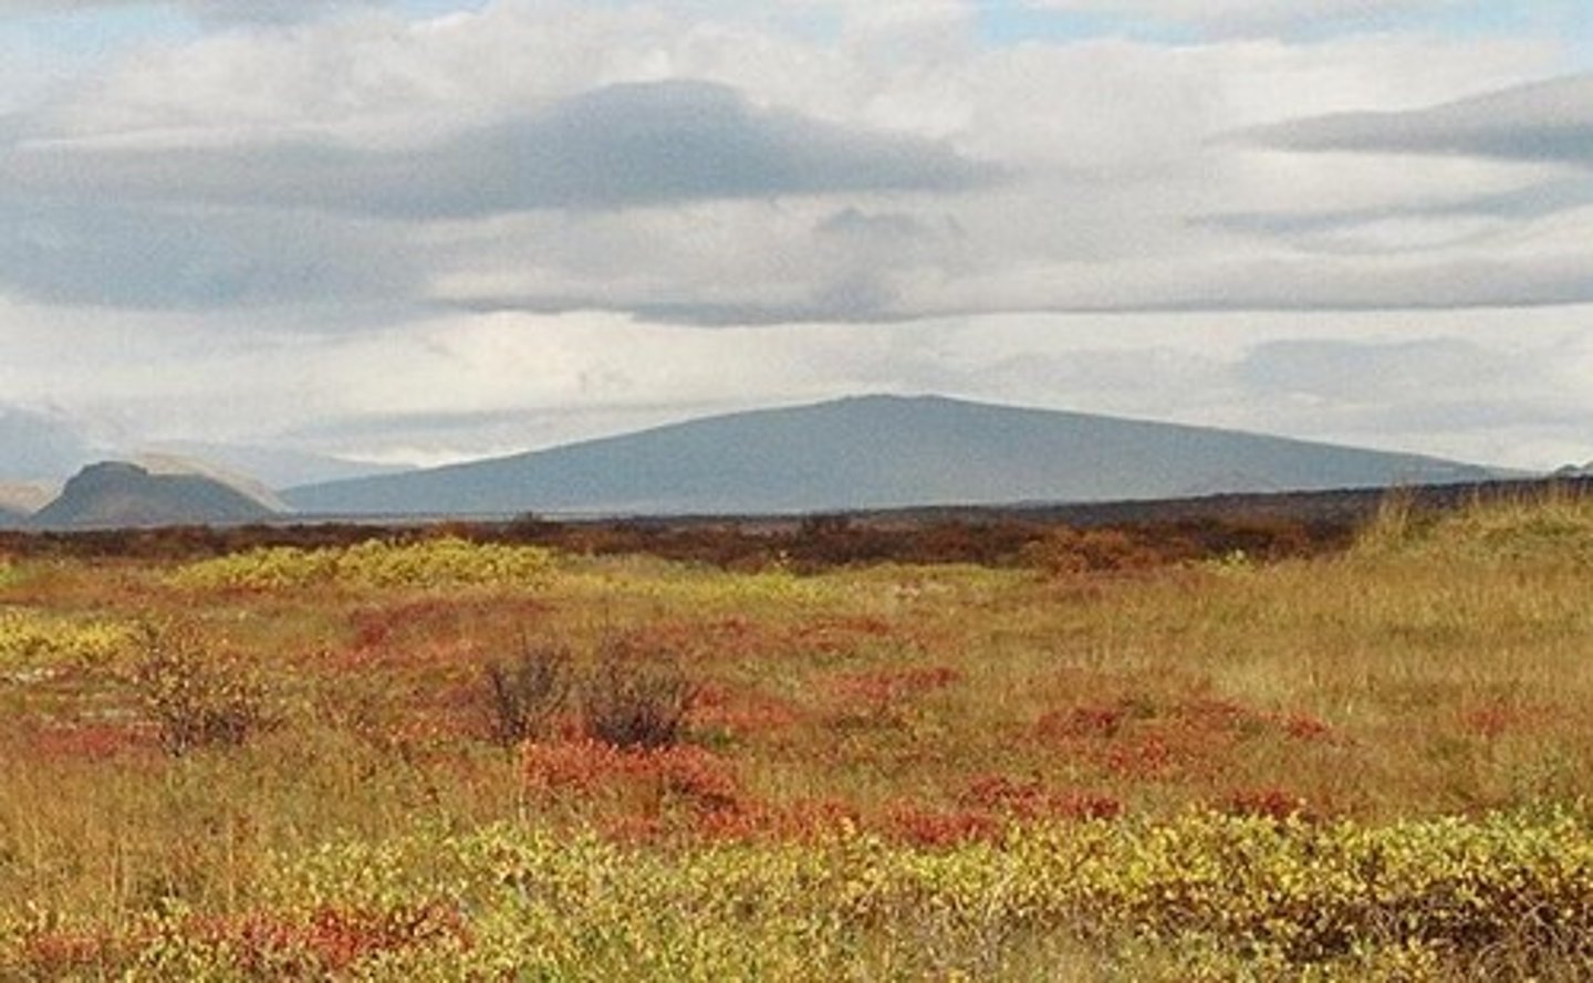
[[[803,513],[1486,480],[1486,468],[941,397],[854,397],[290,489],[325,515]]]

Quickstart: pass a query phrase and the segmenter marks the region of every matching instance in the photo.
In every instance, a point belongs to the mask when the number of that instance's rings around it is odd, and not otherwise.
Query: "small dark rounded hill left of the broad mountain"
[[[33,513],[40,529],[104,529],[250,523],[274,515],[229,484],[194,473],[151,473],[135,464],[92,464],[67,481],[61,495]]]

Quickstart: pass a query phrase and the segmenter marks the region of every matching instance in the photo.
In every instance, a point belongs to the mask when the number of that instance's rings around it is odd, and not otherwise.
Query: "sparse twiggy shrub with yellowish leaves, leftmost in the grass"
[[[145,626],[129,679],[174,757],[237,747],[280,722],[258,674],[191,625]]]

